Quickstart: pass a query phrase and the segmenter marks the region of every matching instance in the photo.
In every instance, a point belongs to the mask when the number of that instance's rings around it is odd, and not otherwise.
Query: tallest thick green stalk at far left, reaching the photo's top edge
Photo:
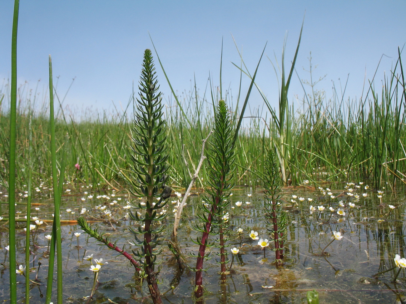
[[[15,143],[17,119],[17,28],[19,0],[14,1],[13,32],[11,34],[11,103],[10,103],[10,176],[9,176],[9,272],[10,304],[17,303],[17,274],[15,272]]]

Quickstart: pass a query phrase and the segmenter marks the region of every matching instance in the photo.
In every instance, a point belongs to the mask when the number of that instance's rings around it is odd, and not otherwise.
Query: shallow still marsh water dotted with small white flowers
[[[361,188],[362,189],[362,188]],[[356,192],[357,190],[354,190]],[[332,191],[334,195],[339,196],[342,191]],[[253,194],[248,197],[247,194]],[[288,243],[287,252],[283,268],[276,269],[272,265],[274,252],[266,249],[267,261],[263,261],[263,250],[257,245],[257,241],[251,240],[248,233],[251,230],[258,231],[259,237],[270,238],[266,232],[266,223],[263,217],[263,195],[261,192],[255,192],[252,189],[240,189],[234,191],[230,197],[231,206],[235,208],[230,211],[230,235],[229,248],[240,247],[240,253],[235,256],[233,262],[233,273],[227,276],[227,283],[220,285],[220,276],[218,274],[219,264],[216,262],[218,256],[216,248],[210,248],[213,251],[212,259],[205,261],[204,267],[208,265],[209,270],[203,276],[206,304],[214,303],[306,303],[306,292],[316,289],[319,292],[320,303],[403,303],[406,295],[406,273],[402,270],[398,280],[392,283],[397,272],[397,268],[374,278],[373,275],[394,266],[393,258],[395,254],[404,257],[404,216],[405,214],[405,195],[404,193],[385,193],[381,201],[377,193],[370,190],[358,190],[361,198],[355,199],[346,194],[340,195],[335,199],[330,199],[328,195],[322,196],[320,191],[306,188],[285,189],[283,199],[285,210],[288,213]],[[362,193],[367,193],[363,197]],[[111,194],[111,192],[110,192]],[[292,203],[292,195],[304,197],[305,200]],[[133,221],[124,220],[125,212],[122,207],[126,205],[126,195],[116,193],[115,197],[110,199],[94,198],[82,201],[86,195],[64,195],[62,218],[65,220],[76,219],[80,214],[81,208],[91,209],[92,206],[101,204],[107,205],[112,210],[112,218],[117,221],[95,222],[93,225],[99,228],[99,232],[108,233],[112,241],[117,240],[117,245],[125,245],[125,249],[131,253],[131,249],[136,250],[136,246],[130,244],[133,242],[132,233],[128,226],[134,225]],[[121,200],[117,200],[120,197]],[[307,198],[313,199],[309,202]],[[171,197],[168,203],[169,216],[166,219],[166,234],[170,235],[173,223]],[[349,199],[349,200],[347,200]],[[110,206],[113,200],[117,203]],[[346,216],[337,214],[339,201],[343,200],[345,207],[343,210]],[[51,218],[52,201],[45,199],[37,200],[41,205],[32,206],[32,216],[37,215],[35,207],[39,207],[38,217],[40,219]],[[235,206],[235,202],[242,201],[242,206]],[[249,201],[247,205],[245,202]],[[356,204],[354,208],[348,206],[348,202]],[[187,263],[190,267],[194,266],[195,259],[188,253],[196,253],[198,245],[191,241],[199,236],[192,229],[196,225],[194,216],[197,210],[197,204],[201,203],[199,196],[191,196],[188,205],[184,209],[182,225],[179,228],[178,240]],[[395,209],[388,207],[394,205]],[[319,211],[310,213],[309,206],[323,205],[326,209],[320,214]],[[3,214],[6,213],[3,205]],[[290,207],[292,206],[292,207]],[[335,208],[330,212],[328,207]],[[24,217],[24,205],[18,205],[17,210],[23,213],[19,215]],[[67,208],[72,209],[75,214],[65,212]],[[115,210],[115,211],[114,211]],[[100,218],[102,212],[93,210],[89,212],[91,216]],[[331,216],[331,217],[330,217]],[[345,218],[345,219],[344,219]],[[378,220],[384,219],[382,222]],[[4,223],[4,222],[3,222]],[[24,242],[25,232],[22,229],[25,223],[21,223],[17,234],[17,261],[24,263]],[[48,224],[50,225],[50,224]],[[244,232],[241,239],[236,232],[242,228]],[[335,240],[326,252],[328,255],[321,255],[322,249],[330,242],[332,231],[342,231],[343,239]],[[77,225],[63,225],[63,282],[64,282],[64,303],[84,303],[82,297],[90,295],[93,284],[93,272],[89,270],[90,262],[84,259],[85,256],[93,254],[94,258],[103,258],[108,261],[108,265],[103,265],[99,272],[99,286],[95,292],[95,300],[92,303],[111,303],[108,299],[116,303],[139,303],[143,296],[147,295],[147,286],[144,283],[141,290],[135,283],[134,268],[122,256],[117,257],[114,250],[106,246],[99,246],[94,239],[86,239],[82,233],[78,238],[73,235],[75,232],[81,232]],[[48,259],[46,250],[48,240],[45,235],[51,233],[51,226],[41,225],[38,230],[32,231],[31,262],[32,269],[36,270],[38,261],[42,265],[39,270],[38,278],[43,285],[31,285],[30,303],[43,303],[45,301],[46,275],[48,268]],[[212,240],[213,239],[213,236]],[[78,247],[79,242],[79,247]],[[0,248],[8,245],[8,234],[5,228],[0,233]],[[32,245],[32,244],[31,244]],[[161,293],[170,289],[171,280],[177,274],[176,263],[171,261],[171,252],[166,248],[166,242],[163,242],[164,251],[161,255],[160,264],[160,291]],[[270,247],[273,243],[270,242]],[[2,265],[0,265],[0,278],[4,284],[0,287],[0,300],[7,301],[9,298],[9,270],[8,255],[6,250],[2,249],[4,256]],[[231,259],[231,252],[229,258]],[[55,267],[56,269],[56,267]],[[30,278],[34,279],[36,272],[31,272]],[[18,275],[17,288],[19,290],[20,300],[24,297],[24,277]],[[54,284],[55,287],[56,284]],[[273,286],[272,288],[264,288]],[[164,297],[164,303],[190,303],[194,287],[194,272],[185,272],[181,276],[180,284],[173,290],[168,291]],[[56,291],[55,291],[56,293]],[[56,299],[55,299],[56,300]]]

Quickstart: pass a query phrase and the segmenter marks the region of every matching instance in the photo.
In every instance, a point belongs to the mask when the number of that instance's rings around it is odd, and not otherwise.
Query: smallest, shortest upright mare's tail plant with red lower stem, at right
[[[275,263],[281,266],[283,264],[283,250],[287,238],[286,212],[282,210],[279,200],[281,178],[279,177],[279,166],[276,165],[276,156],[272,149],[268,151],[263,184],[266,195],[264,203],[266,223],[270,226],[267,230],[274,235]]]

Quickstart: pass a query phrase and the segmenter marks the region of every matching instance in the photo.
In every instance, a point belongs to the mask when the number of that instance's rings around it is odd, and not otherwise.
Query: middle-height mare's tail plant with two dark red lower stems
[[[203,262],[207,258],[206,247],[214,246],[209,243],[210,234],[219,234],[220,265],[222,279],[226,274],[226,253],[225,253],[225,227],[228,215],[227,206],[229,201],[232,173],[234,164],[234,145],[231,120],[225,101],[220,100],[216,113],[214,114],[214,133],[207,152],[207,184],[206,195],[203,196],[205,204],[201,204],[201,214],[197,215],[202,226],[197,225],[197,231],[202,233],[201,239],[195,242],[198,244],[199,253],[196,255],[196,272],[194,295],[200,298],[203,295]]]

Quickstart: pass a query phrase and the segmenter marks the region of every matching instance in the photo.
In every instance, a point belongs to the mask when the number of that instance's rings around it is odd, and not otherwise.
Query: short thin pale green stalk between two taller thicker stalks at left
[[[28,197],[27,197],[27,224],[26,224],[26,291],[25,291],[25,302],[30,303],[30,224],[31,224],[31,197],[32,197],[32,125],[31,117],[28,124]]]

